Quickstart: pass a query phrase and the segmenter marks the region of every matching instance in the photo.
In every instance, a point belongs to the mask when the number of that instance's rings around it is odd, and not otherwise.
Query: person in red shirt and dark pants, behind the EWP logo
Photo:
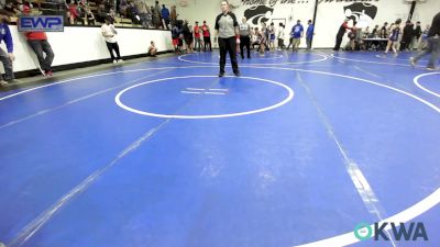
[[[24,14],[29,14],[31,9],[25,7],[23,9]],[[40,70],[43,76],[52,76],[52,61],[54,60],[55,54],[52,50],[51,44],[47,42],[45,32],[25,32],[28,44],[34,50],[40,63]],[[44,53],[44,54],[43,54]]]

